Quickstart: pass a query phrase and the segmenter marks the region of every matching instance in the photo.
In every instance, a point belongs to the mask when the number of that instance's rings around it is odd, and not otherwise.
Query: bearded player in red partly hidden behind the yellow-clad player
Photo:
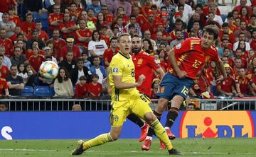
[[[151,84],[153,81],[154,71],[159,74],[159,78],[164,77],[164,71],[161,69],[161,66],[156,63],[156,60],[150,54],[142,50],[142,37],[139,35],[134,35],[132,37],[132,61],[135,66],[135,80],[139,80],[139,76],[144,74],[146,76],[144,82],[141,86],[137,87],[137,90],[141,93],[144,93],[147,97],[151,96]],[[142,120],[139,119],[134,114],[130,114],[127,117],[129,120],[138,124],[142,129],[142,134],[139,141],[143,141],[146,138],[148,124],[144,124]]]

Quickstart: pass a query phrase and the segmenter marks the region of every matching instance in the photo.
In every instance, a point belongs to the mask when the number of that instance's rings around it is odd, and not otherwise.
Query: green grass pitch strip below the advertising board
[[[1,157],[70,156],[76,140],[13,140],[0,141]],[[168,156],[154,139],[150,151],[141,151],[138,139],[119,139],[85,151],[82,156]],[[176,139],[172,141],[184,156],[255,156],[256,139]]]

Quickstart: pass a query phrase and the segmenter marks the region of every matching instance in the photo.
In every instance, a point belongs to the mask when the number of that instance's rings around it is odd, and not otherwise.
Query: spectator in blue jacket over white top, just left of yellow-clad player
[[[92,74],[97,74],[99,76],[98,83],[102,84],[105,79],[107,79],[107,71],[104,66],[100,65],[100,57],[93,58],[93,65],[90,67]]]

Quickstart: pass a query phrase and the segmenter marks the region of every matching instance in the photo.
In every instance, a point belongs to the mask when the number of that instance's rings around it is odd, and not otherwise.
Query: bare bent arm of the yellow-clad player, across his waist
[[[138,82],[124,83],[122,82],[122,76],[113,76],[114,87],[118,89],[136,88],[142,85],[143,80],[139,79]]]

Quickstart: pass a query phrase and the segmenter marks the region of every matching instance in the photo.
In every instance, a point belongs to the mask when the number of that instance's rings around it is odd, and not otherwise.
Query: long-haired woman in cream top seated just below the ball
[[[65,68],[60,67],[53,86],[55,91],[54,97],[71,97],[74,95],[72,82]]]

